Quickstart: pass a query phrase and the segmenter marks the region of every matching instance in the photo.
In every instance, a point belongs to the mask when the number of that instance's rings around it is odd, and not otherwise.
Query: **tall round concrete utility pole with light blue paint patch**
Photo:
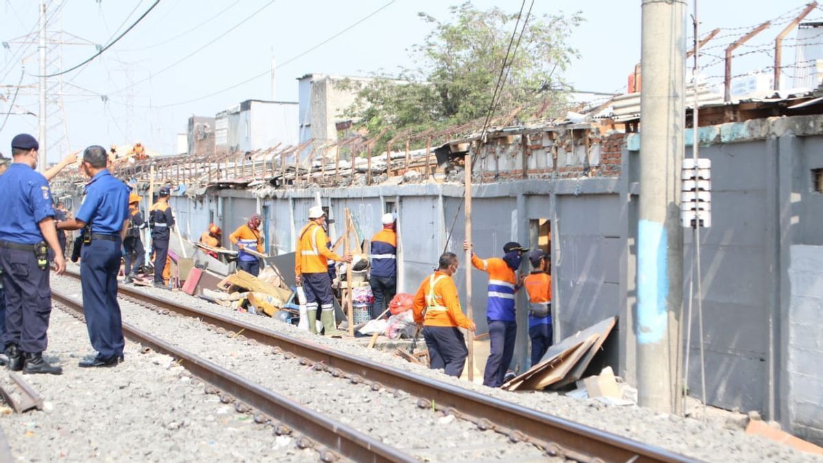
[[[672,413],[683,305],[686,2],[642,2],[637,386],[639,405]]]

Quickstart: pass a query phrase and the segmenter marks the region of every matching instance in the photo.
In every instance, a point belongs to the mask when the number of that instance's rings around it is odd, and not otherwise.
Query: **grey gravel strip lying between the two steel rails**
[[[54,280],[53,288],[79,298],[76,280]],[[377,437],[421,461],[548,460],[544,451],[531,444],[512,443],[499,433],[479,430],[474,423],[420,409],[417,399],[405,392],[382,388],[374,391],[369,385],[315,371],[291,354],[278,354],[272,348],[230,337],[222,330],[210,330],[192,318],[161,315],[133,302],[121,302],[121,307],[123,320],[138,329]]]

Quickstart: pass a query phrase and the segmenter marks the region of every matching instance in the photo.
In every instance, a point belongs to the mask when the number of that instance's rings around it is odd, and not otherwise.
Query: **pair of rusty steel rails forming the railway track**
[[[72,272],[67,272],[66,275],[79,278],[79,274]],[[481,430],[504,434],[510,442],[528,442],[545,451],[546,456],[572,461],[690,461],[689,457],[660,447],[636,442],[441,381],[416,376],[411,372],[404,372],[378,362],[352,357],[319,344],[212,311],[183,306],[136,288],[120,285],[119,290],[120,297],[126,301],[162,314],[200,320],[212,330],[226,332],[239,339],[253,339],[258,344],[271,346],[284,353],[287,358],[300,358],[300,363],[313,367],[314,370],[326,371],[332,376],[342,377],[351,382],[370,383],[373,387],[405,391],[418,398],[417,404],[420,408],[440,410],[458,419],[471,421]],[[71,297],[55,292],[55,298],[67,306],[74,306],[77,310],[77,301],[73,301]],[[407,461],[411,458],[380,442],[370,441],[369,437],[354,429],[323,419],[310,409],[300,410],[300,405],[295,405],[285,397],[248,384],[249,381],[203,359],[192,358],[191,354],[159,339],[153,339],[151,334],[137,330],[131,325],[123,323],[123,330],[128,337],[144,345],[175,358],[187,359],[184,360],[184,364],[204,381],[273,419],[300,429],[302,433],[344,456],[356,461]],[[329,454],[328,458],[332,458],[332,455]]]

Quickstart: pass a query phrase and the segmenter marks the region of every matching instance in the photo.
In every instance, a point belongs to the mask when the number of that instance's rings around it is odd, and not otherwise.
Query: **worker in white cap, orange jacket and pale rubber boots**
[[[300,230],[295,253],[295,281],[302,286],[306,297],[306,316],[309,319],[309,331],[317,333],[317,311],[326,334],[337,330],[334,325],[334,301],[332,296],[332,278],[328,275],[328,260],[351,263],[351,255],[343,257],[327,247],[326,231],[323,224],[326,213],[323,208],[309,208],[309,223]]]

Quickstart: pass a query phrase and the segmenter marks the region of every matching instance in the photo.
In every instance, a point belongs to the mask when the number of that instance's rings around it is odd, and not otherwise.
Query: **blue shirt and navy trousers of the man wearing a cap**
[[[35,244],[43,241],[40,221],[54,217],[49,183],[19,162],[0,175],[0,269],[6,292],[3,343],[24,353],[41,353],[47,345],[51,315],[49,268],[41,269]]]

